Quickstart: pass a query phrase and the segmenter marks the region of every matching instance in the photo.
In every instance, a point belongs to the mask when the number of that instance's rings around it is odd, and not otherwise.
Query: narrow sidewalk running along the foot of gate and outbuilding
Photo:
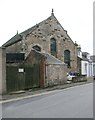
[[[45,92],[48,92],[48,91],[53,91],[53,90],[57,90],[57,89],[65,89],[65,88],[68,88],[68,87],[88,84],[88,83],[91,83],[91,82],[93,82],[92,79],[87,80],[85,82],[76,82],[76,83],[57,85],[57,86],[48,87],[48,88],[44,88],[44,89],[35,88],[35,89],[26,90],[26,91],[18,91],[18,92],[10,93],[8,95],[3,95],[2,99],[0,98],[0,101],[18,99],[18,98],[22,98],[22,97],[25,97],[25,96],[27,97],[27,96],[31,96],[31,95],[37,95],[37,94],[45,93]]]

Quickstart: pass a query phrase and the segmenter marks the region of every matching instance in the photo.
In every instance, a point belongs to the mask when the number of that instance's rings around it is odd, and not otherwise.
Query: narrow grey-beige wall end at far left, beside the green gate
[[[6,93],[6,50],[0,48],[0,94]]]

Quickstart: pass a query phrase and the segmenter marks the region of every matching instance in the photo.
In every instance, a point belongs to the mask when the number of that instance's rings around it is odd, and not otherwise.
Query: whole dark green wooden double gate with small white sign
[[[7,92],[31,89],[40,86],[39,64],[34,65],[7,65],[6,67]]]

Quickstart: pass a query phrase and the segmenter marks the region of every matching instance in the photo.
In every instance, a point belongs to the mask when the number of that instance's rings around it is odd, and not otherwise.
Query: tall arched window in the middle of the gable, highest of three
[[[56,50],[56,40],[54,38],[51,38],[50,40],[50,51],[51,55],[57,56],[57,50]]]

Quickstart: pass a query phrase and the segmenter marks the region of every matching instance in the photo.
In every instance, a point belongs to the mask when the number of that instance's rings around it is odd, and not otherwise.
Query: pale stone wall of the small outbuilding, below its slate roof
[[[66,82],[66,66],[60,64],[46,65],[45,86],[52,86]]]

